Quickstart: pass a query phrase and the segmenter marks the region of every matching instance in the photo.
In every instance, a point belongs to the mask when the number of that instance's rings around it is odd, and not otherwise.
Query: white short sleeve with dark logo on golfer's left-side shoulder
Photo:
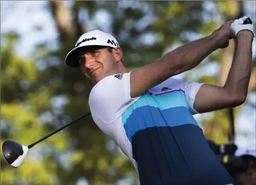
[[[89,105],[92,117],[104,123],[114,122],[133,100],[130,96],[130,73],[108,76],[91,90]]]

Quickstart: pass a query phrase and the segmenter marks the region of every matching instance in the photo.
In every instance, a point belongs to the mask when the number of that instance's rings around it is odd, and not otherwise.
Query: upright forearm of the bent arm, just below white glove
[[[235,53],[224,88],[232,97],[245,100],[251,76],[253,38],[242,36],[235,40]]]

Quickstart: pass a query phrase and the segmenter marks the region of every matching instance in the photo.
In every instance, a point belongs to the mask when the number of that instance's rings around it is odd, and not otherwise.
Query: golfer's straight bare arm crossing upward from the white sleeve
[[[142,95],[166,79],[193,69],[213,51],[228,46],[231,21],[224,23],[210,36],[188,43],[165,54],[157,62],[131,72],[131,97]]]

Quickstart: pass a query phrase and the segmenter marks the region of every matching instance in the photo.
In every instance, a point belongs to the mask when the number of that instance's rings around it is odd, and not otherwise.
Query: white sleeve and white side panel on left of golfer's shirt
[[[132,146],[122,124],[122,114],[138,98],[130,96],[130,73],[102,79],[92,88],[89,96],[92,119],[100,130],[115,140],[137,172],[137,162],[133,159]]]

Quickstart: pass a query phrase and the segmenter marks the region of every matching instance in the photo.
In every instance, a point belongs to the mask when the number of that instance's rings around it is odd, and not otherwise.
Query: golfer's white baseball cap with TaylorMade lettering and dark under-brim
[[[65,63],[69,67],[79,67],[77,55],[80,54],[79,52],[81,52],[81,47],[84,46],[107,46],[116,48],[119,47],[119,43],[112,35],[104,33],[103,31],[88,31],[77,40],[75,48],[67,54]]]

